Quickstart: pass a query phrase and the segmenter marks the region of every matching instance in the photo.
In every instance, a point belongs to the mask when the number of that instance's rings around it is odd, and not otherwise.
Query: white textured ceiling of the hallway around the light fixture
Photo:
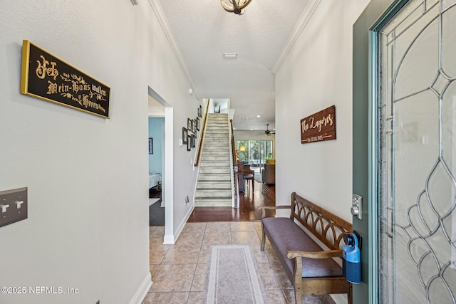
[[[274,128],[271,70],[309,0],[252,0],[242,16],[219,0],[159,2],[199,98],[229,98],[236,130]]]

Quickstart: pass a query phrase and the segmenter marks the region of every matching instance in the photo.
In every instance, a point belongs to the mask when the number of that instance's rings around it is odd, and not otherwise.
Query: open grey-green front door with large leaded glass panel
[[[456,303],[455,54],[455,0],[373,0],[353,26],[354,303]]]

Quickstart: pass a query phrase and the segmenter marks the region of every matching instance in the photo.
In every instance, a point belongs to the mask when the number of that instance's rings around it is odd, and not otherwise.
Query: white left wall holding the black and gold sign
[[[0,190],[28,187],[28,219],[0,228],[0,285],[79,290],[0,303],[140,303],[150,283],[148,86],[173,108],[175,183],[196,178],[177,142],[199,103],[162,26],[147,1],[129,0],[6,1],[0,26]],[[19,94],[23,39],[109,85],[110,119]],[[173,228],[189,190],[173,193]]]

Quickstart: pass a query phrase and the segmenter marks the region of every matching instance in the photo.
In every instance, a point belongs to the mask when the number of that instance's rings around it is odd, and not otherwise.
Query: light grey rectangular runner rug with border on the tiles
[[[248,245],[210,247],[203,303],[267,303]]]

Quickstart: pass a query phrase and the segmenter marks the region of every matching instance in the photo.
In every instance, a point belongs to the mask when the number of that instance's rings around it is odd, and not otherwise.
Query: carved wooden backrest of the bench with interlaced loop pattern
[[[291,194],[290,219],[299,221],[330,249],[341,249],[343,234],[353,231],[348,221],[299,196]]]

